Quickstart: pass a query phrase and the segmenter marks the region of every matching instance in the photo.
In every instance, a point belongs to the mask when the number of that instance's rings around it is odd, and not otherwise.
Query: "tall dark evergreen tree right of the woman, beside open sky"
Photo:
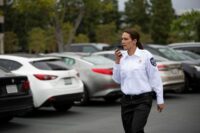
[[[154,43],[166,44],[170,25],[174,18],[171,0],[150,0],[151,7],[151,37]]]

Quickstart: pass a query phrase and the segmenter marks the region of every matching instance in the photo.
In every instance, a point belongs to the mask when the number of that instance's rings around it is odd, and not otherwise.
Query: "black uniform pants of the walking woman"
[[[125,133],[144,133],[152,101],[152,93],[136,96],[123,95],[121,99],[121,117]]]

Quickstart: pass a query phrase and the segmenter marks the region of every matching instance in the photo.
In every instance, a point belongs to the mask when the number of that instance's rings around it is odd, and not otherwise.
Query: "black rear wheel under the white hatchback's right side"
[[[72,107],[73,103],[54,103],[53,107],[56,109],[56,111],[59,112],[66,112]]]

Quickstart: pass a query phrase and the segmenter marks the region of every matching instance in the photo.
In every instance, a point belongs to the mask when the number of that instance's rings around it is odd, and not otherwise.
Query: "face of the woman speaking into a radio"
[[[124,32],[122,34],[122,46],[124,50],[129,50],[135,47],[136,45],[136,39],[132,40],[130,37],[130,34]]]

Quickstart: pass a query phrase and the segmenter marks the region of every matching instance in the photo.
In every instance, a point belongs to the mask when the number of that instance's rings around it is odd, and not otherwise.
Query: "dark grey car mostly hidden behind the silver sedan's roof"
[[[74,43],[70,45],[65,45],[64,49],[66,52],[86,52],[93,53],[97,51],[102,51],[109,44],[105,43]]]

